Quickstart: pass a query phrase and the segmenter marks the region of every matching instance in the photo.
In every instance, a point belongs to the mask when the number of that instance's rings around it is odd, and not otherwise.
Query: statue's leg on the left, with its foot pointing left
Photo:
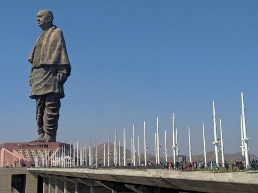
[[[38,142],[45,136],[43,130],[43,116],[44,116],[44,108],[45,108],[45,97],[43,95],[36,97],[36,121],[38,126],[38,134],[39,136],[32,140],[31,142]]]

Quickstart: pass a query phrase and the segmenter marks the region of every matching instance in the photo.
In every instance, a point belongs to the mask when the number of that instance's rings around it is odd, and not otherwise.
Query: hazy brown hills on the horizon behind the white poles
[[[123,153],[123,146],[121,146],[120,148],[120,155],[121,155],[121,164],[124,164],[124,153]],[[137,148],[135,149],[137,150]],[[99,163],[104,163],[104,144],[98,145],[97,147],[97,153],[98,153],[98,162]],[[108,163],[107,159],[108,159],[108,143],[105,143],[105,154],[106,154],[106,164]],[[113,163],[114,160],[114,144],[110,143],[110,163]],[[119,145],[117,145],[117,161],[119,163]],[[87,149],[87,154],[88,154],[88,149]],[[94,148],[94,155],[95,155],[95,148]],[[209,151],[206,153],[207,156],[207,161],[213,161],[215,160],[215,153],[214,151]],[[241,152],[237,152],[237,153],[227,153],[224,154],[224,159],[227,162],[230,162],[230,160],[242,160],[242,153]],[[258,157],[252,153],[250,153],[250,160],[252,159],[258,159]],[[189,161],[189,156],[186,156],[186,160]],[[165,157],[164,156],[160,156],[160,161],[161,162],[165,162]],[[168,157],[168,161],[173,161],[172,157]],[[204,161],[204,154],[201,155],[193,155],[192,156],[192,161]],[[131,163],[131,150],[127,149],[127,162]],[[141,152],[140,153],[140,162],[144,163],[144,153]],[[151,163],[155,163],[155,155],[152,155],[150,153],[147,153],[147,162],[151,162]],[[222,158],[221,158],[221,152],[219,152],[219,162],[222,162]],[[135,153],[135,163],[136,165],[138,165],[138,152]]]

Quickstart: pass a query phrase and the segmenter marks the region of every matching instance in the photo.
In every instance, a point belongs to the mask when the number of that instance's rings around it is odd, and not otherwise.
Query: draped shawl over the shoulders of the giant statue
[[[36,44],[29,56],[28,60],[31,63],[33,61],[35,47],[39,39],[40,37],[36,41]],[[65,65],[67,67],[68,76],[70,75],[71,66],[67,56],[63,32],[55,25],[47,31],[42,43],[40,66],[47,65]]]

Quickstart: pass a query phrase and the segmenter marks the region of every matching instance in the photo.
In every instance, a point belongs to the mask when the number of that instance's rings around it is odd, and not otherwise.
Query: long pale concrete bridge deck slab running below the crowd
[[[258,172],[203,172],[162,169],[28,168],[29,172],[78,179],[139,184],[207,193],[257,192]]]

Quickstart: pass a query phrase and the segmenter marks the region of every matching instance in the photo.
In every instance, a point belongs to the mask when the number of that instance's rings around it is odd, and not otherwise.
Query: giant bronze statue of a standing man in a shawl
[[[36,99],[39,134],[32,142],[56,142],[60,99],[65,97],[64,83],[71,72],[63,32],[53,25],[53,19],[49,10],[38,12],[37,22],[43,31],[29,56],[30,98]]]

